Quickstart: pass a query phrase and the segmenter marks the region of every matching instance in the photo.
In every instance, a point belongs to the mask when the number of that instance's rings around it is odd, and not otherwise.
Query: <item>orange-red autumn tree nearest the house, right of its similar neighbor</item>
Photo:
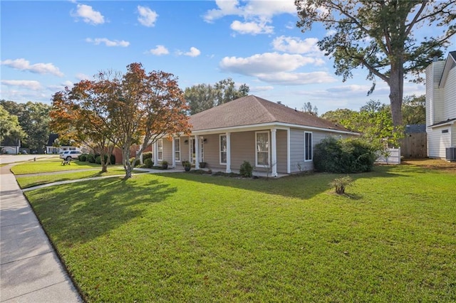
[[[138,154],[142,154],[161,137],[190,132],[188,107],[175,76],[163,71],[146,73],[140,63],[127,66],[108,110],[122,148],[125,179],[133,170],[129,161],[133,144],[140,145]]]

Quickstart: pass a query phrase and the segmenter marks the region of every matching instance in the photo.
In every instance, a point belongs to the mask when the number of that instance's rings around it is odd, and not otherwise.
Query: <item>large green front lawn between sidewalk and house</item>
[[[456,174],[138,175],[26,192],[87,302],[455,302]]]

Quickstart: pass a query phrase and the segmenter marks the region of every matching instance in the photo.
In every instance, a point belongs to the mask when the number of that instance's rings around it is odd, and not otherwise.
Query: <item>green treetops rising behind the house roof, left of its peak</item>
[[[249,86],[242,84],[239,88],[231,78],[220,80],[214,85],[199,84],[185,88],[184,97],[190,107],[190,115],[209,110],[239,97],[249,94]]]

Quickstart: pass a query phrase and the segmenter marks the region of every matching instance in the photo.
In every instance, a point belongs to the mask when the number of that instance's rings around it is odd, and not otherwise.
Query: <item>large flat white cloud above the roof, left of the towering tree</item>
[[[296,70],[304,65],[322,65],[321,58],[305,57],[298,54],[262,53],[248,58],[225,57],[220,62],[220,68],[242,75],[257,73],[278,73]]]

